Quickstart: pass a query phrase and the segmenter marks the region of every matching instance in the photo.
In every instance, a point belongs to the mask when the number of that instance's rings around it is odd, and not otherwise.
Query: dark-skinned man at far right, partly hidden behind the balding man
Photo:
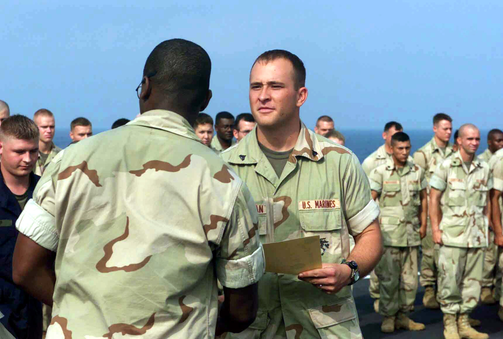
[[[491,129],[487,133],[487,148],[479,155],[481,159],[489,162],[491,156],[503,148],[503,132],[499,129]],[[493,297],[493,287],[495,278],[495,268],[498,254],[498,246],[494,243],[493,226],[489,223],[489,239],[484,252],[484,267],[482,270],[482,290],[480,291],[480,301],[484,304],[495,303]]]

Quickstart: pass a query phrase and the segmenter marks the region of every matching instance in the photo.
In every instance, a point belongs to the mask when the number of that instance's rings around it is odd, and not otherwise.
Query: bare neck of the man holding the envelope
[[[273,151],[284,152],[295,147],[299,132],[300,118],[296,116],[281,126],[257,126],[257,140]]]

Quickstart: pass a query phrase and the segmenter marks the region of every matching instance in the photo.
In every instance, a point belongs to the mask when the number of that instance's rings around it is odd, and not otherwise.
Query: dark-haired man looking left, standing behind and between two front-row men
[[[425,170],[428,183],[428,199],[430,195],[430,179],[439,163],[454,153],[453,145],[449,142],[452,133],[452,119],[444,113],[438,113],[433,117],[433,138],[423,147],[415,151],[413,158],[415,164]],[[421,259],[421,276],[419,281],[425,287],[423,304],[427,308],[439,308],[436,300],[435,285],[437,284],[437,260],[435,258],[435,243],[432,238],[432,224],[428,217],[426,236],[421,240],[423,257]],[[438,251],[437,251],[438,253]]]

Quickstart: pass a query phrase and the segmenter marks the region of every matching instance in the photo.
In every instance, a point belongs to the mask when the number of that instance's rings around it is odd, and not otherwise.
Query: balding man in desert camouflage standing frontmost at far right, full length
[[[437,166],[430,180],[433,240],[439,244],[438,294],[444,336],[484,339],[468,314],[480,297],[484,248],[487,246],[489,164],[475,157],[480,132],[472,124],[459,129],[459,151]]]

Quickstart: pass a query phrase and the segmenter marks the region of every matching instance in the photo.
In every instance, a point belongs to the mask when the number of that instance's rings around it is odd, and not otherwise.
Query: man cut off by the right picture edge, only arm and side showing
[[[503,148],[494,153],[489,161],[491,167],[493,186],[490,191],[491,218],[494,227],[494,244],[497,246],[496,274],[494,295],[499,299],[498,316],[503,321]]]

